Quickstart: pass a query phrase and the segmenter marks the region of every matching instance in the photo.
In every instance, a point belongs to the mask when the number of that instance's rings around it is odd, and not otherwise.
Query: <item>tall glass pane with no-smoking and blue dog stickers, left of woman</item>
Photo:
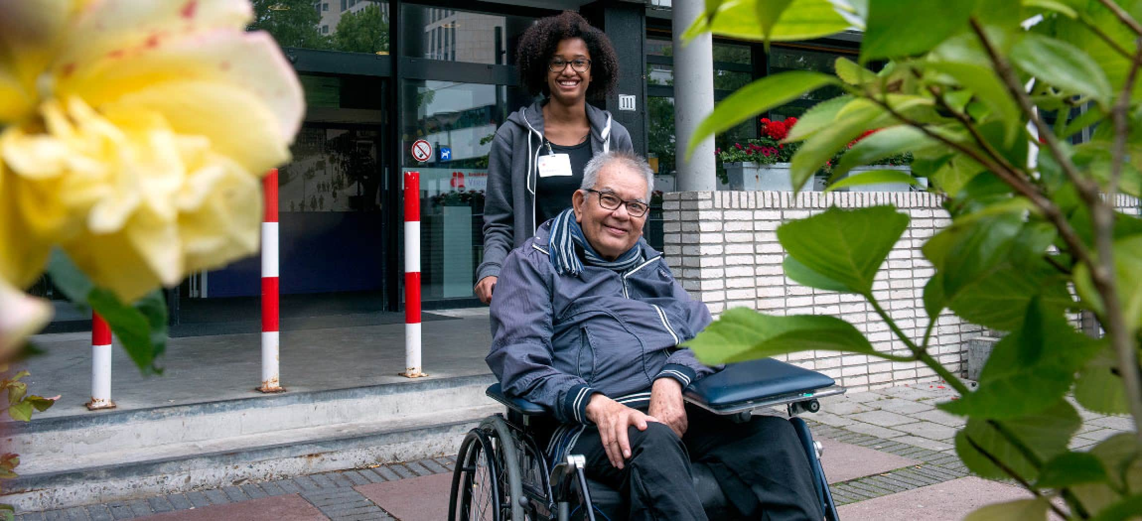
[[[483,258],[488,153],[508,111],[530,100],[517,88],[408,80],[401,111],[402,164],[420,172],[421,298],[472,299]],[[510,108],[509,108],[510,107]],[[417,162],[424,139],[432,156]]]

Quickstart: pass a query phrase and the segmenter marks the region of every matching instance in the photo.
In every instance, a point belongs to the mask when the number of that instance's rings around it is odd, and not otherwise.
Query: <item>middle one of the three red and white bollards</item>
[[[262,179],[262,392],[282,392],[279,369],[278,169]]]

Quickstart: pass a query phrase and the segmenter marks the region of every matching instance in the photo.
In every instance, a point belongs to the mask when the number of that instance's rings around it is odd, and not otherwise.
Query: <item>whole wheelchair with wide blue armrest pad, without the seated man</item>
[[[774,359],[732,364],[686,388],[684,399],[719,415],[748,421],[754,409],[787,407],[801,445],[809,457],[821,511],[837,521],[837,510],[821,467],[821,445],[813,441],[801,413],[820,410],[819,398],[842,394],[833,378]],[[534,433],[548,413],[541,406],[502,393],[500,384],[488,396],[507,410],[485,417],[468,431],[457,455],[449,497],[450,521],[571,521],[596,518],[600,504],[619,505],[621,495],[584,474],[584,457],[548,461]],[[692,464],[694,489],[710,519],[725,519],[732,506],[710,470]]]

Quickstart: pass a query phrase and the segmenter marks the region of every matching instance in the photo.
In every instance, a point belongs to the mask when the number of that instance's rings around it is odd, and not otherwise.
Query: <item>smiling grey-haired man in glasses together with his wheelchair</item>
[[[843,389],[679,348],[710,315],[642,239],[652,186],[641,157],[596,156],[572,207],[504,261],[486,361],[507,416],[461,445],[450,519],[836,519],[804,422],[750,410]]]

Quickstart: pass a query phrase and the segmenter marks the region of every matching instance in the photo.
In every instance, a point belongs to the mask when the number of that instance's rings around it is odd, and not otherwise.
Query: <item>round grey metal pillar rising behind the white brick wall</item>
[[[678,144],[678,192],[717,189],[714,168],[714,138],[694,148],[690,158],[684,150],[706,116],[714,111],[714,39],[709,33],[682,41],[682,33],[699,16],[705,2],[674,2],[674,128]]]

